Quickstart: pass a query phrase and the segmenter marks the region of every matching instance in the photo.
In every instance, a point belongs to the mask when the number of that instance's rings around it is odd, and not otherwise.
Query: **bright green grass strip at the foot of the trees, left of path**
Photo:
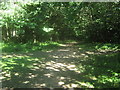
[[[2,43],[2,51],[11,52],[31,52],[36,50],[52,50],[59,46],[57,42],[42,42],[34,44],[15,44],[15,43]]]

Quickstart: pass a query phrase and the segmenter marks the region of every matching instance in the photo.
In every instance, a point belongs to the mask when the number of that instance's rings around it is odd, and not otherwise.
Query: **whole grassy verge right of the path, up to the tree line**
[[[120,45],[104,43],[84,43],[78,45],[88,58],[82,62],[85,77],[92,78],[89,82],[96,88],[119,87],[120,83]],[[81,64],[77,65],[78,68]],[[80,69],[81,70],[81,69]],[[93,78],[94,77],[94,78]]]

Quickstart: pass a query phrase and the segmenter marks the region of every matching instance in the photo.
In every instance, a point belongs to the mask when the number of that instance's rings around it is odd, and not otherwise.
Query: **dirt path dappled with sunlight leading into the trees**
[[[35,59],[30,64],[31,68],[28,69],[27,65],[23,65],[23,72],[13,70],[11,80],[5,82],[5,86],[17,88],[94,87],[85,83],[91,79],[84,77],[83,65],[81,64],[79,70],[76,66],[88,57],[80,51],[76,44],[77,42],[61,44],[58,49],[51,51],[35,51],[12,55],[13,57],[24,56]]]

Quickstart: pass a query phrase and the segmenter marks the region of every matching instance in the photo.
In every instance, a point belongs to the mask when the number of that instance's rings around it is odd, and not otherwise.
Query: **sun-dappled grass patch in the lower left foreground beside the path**
[[[30,73],[35,72],[36,64],[41,64],[42,61],[42,58],[28,56],[3,57],[2,87],[30,87],[26,84],[26,81],[32,82],[32,79],[28,78],[28,76],[30,76]]]

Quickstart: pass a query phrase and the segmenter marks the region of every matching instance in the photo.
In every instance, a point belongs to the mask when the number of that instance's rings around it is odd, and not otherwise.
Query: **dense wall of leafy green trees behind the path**
[[[1,4],[2,38],[15,43],[69,39],[120,43],[119,5],[113,2],[14,2],[11,7]]]

